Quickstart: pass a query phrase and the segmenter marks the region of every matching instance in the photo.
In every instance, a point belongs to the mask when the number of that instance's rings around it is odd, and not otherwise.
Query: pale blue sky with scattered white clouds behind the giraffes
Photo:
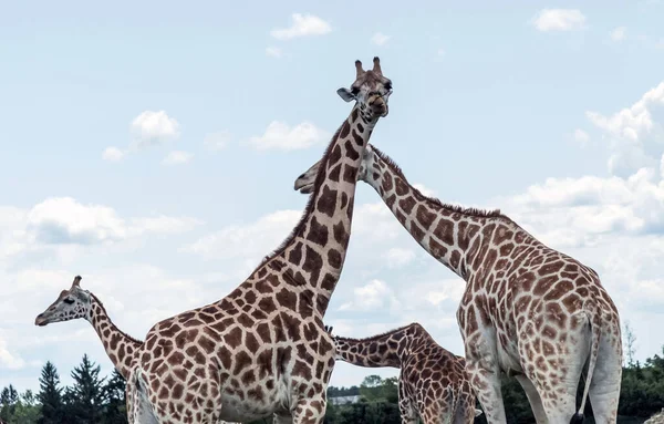
[[[35,389],[46,360],[69,383],[84,352],[111,370],[87,322],[33,324],[77,273],[138,338],[240,283],[298,220],[293,180],[373,55],[394,94],[372,143],[593,267],[637,358],[661,352],[663,2],[184,4],[0,7],[0,386]],[[328,322],[419,321],[461,354],[463,281],[369,186],[356,201]],[[331,383],[371,372],[340,363]]]

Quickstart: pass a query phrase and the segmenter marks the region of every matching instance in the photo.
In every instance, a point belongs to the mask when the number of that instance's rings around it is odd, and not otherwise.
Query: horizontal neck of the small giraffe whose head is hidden
[[[401,368],[402,363],[423,344],[433,341],[417,323],[366,339],[333,337],[336,359],[353,365]]]

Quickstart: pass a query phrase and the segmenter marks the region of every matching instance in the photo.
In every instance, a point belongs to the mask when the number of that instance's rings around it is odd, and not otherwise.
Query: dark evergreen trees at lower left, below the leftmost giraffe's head
[[[55,365],[46,362],[39,393],[19,394],[10,384],[0,392],[0,418],[8,424],[123,424],[127,423],[125,381],[117,372],[100,378],[100,366],[83,355],[71,372],[72,386],[63,386]]]

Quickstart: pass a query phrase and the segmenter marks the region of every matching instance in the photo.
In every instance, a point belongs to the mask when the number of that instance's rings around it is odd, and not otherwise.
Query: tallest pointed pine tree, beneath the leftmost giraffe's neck
[[[95,365],[87,354],[84,354],[81,365],[72,371],[72,379],[74,385],[65,392],[68,421],[80,424],[100,423],[105,397],[100,365]]]

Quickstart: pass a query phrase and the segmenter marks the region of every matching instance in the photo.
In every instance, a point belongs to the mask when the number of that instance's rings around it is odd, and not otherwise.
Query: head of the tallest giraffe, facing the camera
[[[355,61],[355,82],[351,89],[339,89],[336,93],[346,102],[355,101],[367,122],[375,122],[378,117],[387,116],[387,100],[392,94],[392,81],[383,76],[381,60],[373,60],[373,69],[364,71],[362,62]]]

